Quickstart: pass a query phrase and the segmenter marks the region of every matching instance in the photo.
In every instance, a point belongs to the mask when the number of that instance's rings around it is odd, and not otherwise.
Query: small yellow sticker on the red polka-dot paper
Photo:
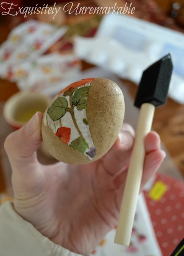
[[[159,201],[167,190],[166,184],[157,181],[150,190],[149,196],[152,200]]]

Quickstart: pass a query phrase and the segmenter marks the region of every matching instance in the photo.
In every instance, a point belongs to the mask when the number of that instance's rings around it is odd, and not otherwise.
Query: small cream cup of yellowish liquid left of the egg
[[[38,92],[17,92],[4,104],[4,119],[17,130],[37,111],[44,114],[49,102],[50,99],[47,96]]]

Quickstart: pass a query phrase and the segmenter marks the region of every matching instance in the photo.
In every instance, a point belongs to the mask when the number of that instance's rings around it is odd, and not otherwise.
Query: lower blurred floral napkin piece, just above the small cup
[[[77,77],[81,62],[73,54],[46,54],[34,62],[13,66],[14,79],[21,90],[43,91]]]

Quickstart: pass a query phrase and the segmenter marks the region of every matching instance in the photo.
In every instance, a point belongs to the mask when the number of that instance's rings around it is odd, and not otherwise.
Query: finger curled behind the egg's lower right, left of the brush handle
[[[127,168],[133,143],[134,129],[129,124],[123,124],[118,139],[101,160],[104,170],[114,175],[120,169]]]

